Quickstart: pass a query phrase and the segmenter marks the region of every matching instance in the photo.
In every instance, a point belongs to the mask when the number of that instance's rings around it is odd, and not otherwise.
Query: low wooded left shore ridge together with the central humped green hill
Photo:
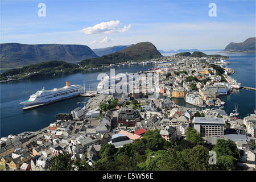
[[[80,65],[86,65],[87,67],[98,67],[106,64],[121,63],[123,61],[140,61],[151,58],[162,57],[156,47],[150,42],[137,43],[133,46],[129,46],[121,51],[110,53],[101,57],[93,59],[86,59],[81,61]],[[36,78],[43,76],[60,75],[63,73],[76,73],[80,71],[80,65],[67,63],[65,61],[46,61],[42,63],[36,63],[27,65],[22,68],[14,68],[3,72],[1,80],[7,80],[7,76]],[[31,75],[26,75],[28,72],[36,72]]]

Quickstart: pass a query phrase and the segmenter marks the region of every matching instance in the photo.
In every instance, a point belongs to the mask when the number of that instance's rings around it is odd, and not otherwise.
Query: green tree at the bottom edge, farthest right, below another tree
[[[217,169],[234,170],[237,166],[237,159],[231,155],[222,155],[217,158]]]

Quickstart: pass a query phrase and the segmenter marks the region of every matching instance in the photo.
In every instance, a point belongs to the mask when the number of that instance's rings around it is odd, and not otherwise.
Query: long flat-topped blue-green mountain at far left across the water
[[[88,46],[63,44],[0,44],[1,68],[16,68],[49,60],[77,62],[98,57]]]

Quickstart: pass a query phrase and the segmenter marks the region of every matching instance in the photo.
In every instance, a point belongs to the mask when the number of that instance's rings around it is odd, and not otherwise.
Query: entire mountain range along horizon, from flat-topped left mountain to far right
[[[143,60],[162,56],[161,53],[196,52],[198,49],[178,49],[177,51],[157,50],[152,43],[144,42],[128,46],[113,46],[90,49],[88,46],[71,44],[0,44],[1,68],[17,68],[43,61],[61,60],[81,64],[112,64],[127,60]],[[207,51],[207,50],[205,50]],[[218,49],[221,51],[221,49]],[[224,51],[255,51],[255,38],[242,43],[230,43]],[[100,57],[99,57],[100,56]],[[95,62],[95,63],[94,63]]]

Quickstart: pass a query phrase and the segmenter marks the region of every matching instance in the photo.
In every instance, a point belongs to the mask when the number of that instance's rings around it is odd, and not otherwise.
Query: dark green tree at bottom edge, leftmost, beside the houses
[[[64,152],[63,154],[59,154],[53,158],[50,169],[52,171],[71,171],[73,170],[72,164],[73,161],[71,160],[71,155]]]

